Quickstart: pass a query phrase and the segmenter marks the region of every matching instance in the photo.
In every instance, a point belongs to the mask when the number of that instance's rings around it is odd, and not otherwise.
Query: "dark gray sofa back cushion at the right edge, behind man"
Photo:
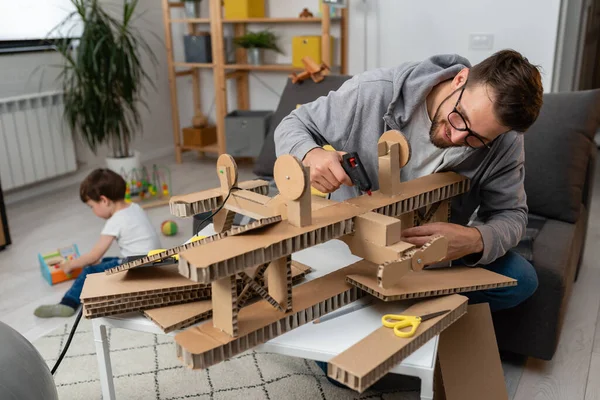
[[[540,116],[524,134],[531,213],[577,221],[598,126],[600,90],[544,94]]]

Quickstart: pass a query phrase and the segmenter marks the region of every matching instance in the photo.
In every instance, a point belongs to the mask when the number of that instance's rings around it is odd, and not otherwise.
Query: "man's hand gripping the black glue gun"
[[[336,191],[342,184],[353,186],[342,167],[342,151],[327,151],[316,147],[306,153],[302,164],[310,167],[310,183],[321,193]]]

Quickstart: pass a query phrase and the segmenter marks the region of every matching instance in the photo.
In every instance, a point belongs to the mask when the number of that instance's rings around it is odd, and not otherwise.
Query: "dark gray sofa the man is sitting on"
[[[315,84],[288,80],[254,173],[272,179],[273,132],[297,104],[336,90],[348,76]],[[594,179],[594,133],[600,124],[600,90],[544,95],[544,106],[525,133],[525,189],[530,208],[527,234],[517,250],[534,265],[536,293],[523,304],[493,314],[498,346],[549,360],[580,265]]]

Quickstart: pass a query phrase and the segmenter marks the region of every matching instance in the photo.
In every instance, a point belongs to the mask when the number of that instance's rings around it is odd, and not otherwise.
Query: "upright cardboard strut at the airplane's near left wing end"
[[[231,337],[238,334],[235,275],[212,282],[213,326]]]

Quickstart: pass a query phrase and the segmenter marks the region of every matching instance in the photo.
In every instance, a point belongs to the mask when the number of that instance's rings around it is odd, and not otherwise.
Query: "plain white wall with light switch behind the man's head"
[[[351,2],[350,72],[417,61],[432,54],[457,53],[475,64],[503,48],[522,52],[541,65],[551,90],[560,0],[367,0],[367,54],[364,47],[365,2]],[[493,48],[472,50],[470,34],[493,34]],[[358,51],[357,51],[358,50]]]

